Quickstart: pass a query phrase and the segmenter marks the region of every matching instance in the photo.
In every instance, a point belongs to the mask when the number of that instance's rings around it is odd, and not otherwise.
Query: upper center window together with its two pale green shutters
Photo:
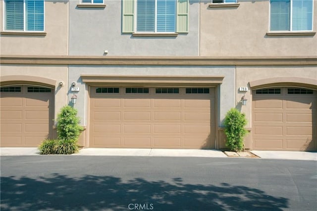
[[[189,0],[123,0],[123,33],[187,33]]]

